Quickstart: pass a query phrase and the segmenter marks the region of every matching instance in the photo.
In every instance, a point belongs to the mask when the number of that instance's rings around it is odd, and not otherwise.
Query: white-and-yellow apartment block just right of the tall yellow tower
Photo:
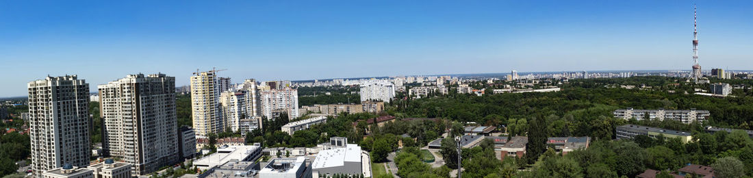
[[[224,128],[230,128],[233,132],[239,130],[239,121],[246,115],[245,94],[241,91],[225,91],[220,94],[220,105]]]

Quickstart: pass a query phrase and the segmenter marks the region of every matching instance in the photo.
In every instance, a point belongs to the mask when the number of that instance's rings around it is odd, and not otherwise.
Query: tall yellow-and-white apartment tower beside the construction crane
[[[197,136],[223,131],[220,111],[220,92],[215,71],[197,72],[191,76],[191,114]]]

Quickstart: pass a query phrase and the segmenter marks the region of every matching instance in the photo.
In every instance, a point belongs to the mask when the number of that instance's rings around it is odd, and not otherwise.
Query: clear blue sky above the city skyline
[[[753,69],[751,1],[699,1],[704,69]],[[2,1],[0,97],[77,74],[188,83],[690,69],[692,1]]]

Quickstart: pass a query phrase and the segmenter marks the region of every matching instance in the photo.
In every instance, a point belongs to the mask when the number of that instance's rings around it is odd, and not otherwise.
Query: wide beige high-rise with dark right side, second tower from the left
[[[97,87],[105,155],[130,163],[137,175],[178,161],[174,77],[127,75]]]

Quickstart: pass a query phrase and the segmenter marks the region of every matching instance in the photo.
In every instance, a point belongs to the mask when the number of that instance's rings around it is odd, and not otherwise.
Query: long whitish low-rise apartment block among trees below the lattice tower
[[[623,118],[625,120],[636,118],[636,120],[645,120],[648,118],[665,119],[681,121],[684,124],[690,124],[693,121],[706,121],[711,112],[708,110],[669,110],[669,109],[617,109],[613,112],[614,118]],[[648,118],[647,118],[648,117]]]

